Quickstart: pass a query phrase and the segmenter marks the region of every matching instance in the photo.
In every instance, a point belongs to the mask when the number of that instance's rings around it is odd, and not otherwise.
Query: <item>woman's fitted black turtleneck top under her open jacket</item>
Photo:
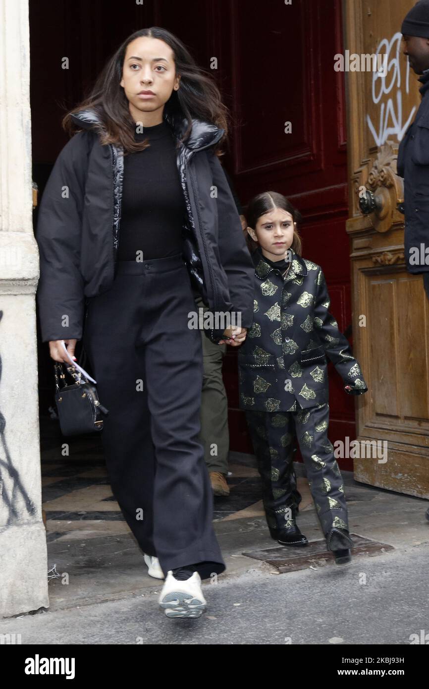
[[[150,145],[124,156],[118,260],[167,258],[182,252],[185,197],[176,164],[174,134],[163,120],[134,134]]]

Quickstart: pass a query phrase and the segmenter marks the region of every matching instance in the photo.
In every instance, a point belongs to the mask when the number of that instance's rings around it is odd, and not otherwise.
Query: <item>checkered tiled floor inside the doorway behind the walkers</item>
[[[48,542],[131,533],[112,495],[101,439],[63,438],[56,421],[45,419],[42,437],[42,496]],[[64,448],[65,443],[67,448]],[[68,452],[64,456],[63,453]],[[260,477],[251,455],[233,453],[229,497],[215,497],[214,520],[264,517]],[[298,480],[301,511],[313,508],[305,478]]]

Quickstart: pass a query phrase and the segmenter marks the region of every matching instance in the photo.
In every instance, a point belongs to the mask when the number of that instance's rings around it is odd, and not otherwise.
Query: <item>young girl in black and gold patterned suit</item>
[[[326,354],[349,394],[367,387],[348,341],[328,311],[320,266],[301,257],[300,213],[276,192],[255,196],[247,209],[253,251],[253,325],[238,350],[240,409],[262,477],[271,536],[283,545],[306,545],[295,523],[299,493],[293,480],[295,438],[311,494],[335,562],[349,562],[344,485],[328,440]]]

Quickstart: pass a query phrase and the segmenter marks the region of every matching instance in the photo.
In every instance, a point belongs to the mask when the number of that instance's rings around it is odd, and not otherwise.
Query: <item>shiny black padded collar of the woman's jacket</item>
[[[72,119],[76,125],[84,127],[85,129],[90,129],[94,125],[103,128],[103,124],[94,110],[79,110],[79,112],[72,114]],[[173,130],[174,136],[176,136],[176,138],[181,138],[182,134],[184,134],[187,129],[187,119],[185,117],[173,118],[167,113],[164,115],[164,119],[170,125],[171,130]],[[220,141],[220,138],[222,138],[224,134],[223,129],[209,122],[199,119],[192,119],[191,122],[191,133],[189,134],[188,140],[183,143],[183,145],[191,151],[200,151],[209,148],[209,146],[213,146]]]

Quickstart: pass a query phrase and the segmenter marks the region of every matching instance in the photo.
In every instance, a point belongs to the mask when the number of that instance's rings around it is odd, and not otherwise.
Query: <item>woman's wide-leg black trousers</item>
[[[181,254],[119,261],[113,286],[88,300],[83,345],[101,403],[112,492],[140,548],[164,573],[225,565],[200,442],[201,333]]]

